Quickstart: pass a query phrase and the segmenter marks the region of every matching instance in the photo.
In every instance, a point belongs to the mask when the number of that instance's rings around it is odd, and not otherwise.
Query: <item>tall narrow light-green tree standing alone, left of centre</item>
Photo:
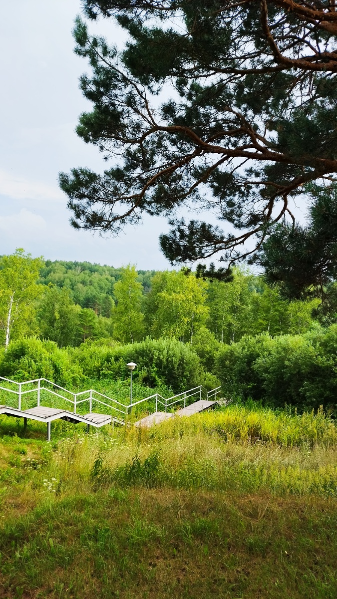
[[[121,279],[113,288],[117,305],[113,311],[114,337],[124,343],[140,341],[144,335],[142,284],[137,281],[137,271],[128,265],[122,269]]]

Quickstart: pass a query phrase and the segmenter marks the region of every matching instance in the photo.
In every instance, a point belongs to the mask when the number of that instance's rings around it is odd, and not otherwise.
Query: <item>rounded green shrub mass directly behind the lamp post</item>
[[[127,363],[136,362],[136,380],[151,387],[164,383],[178,392],[200,385],[197,354],[176,339],[148,338],[124,346],[83,344],[72,353],[89,377],[128,377]]]

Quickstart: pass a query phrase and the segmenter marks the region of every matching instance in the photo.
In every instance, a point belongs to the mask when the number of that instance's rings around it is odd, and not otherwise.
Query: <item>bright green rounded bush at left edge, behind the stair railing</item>
[[[34,337],[13,341],[0,356],[0,376],[17,381],[46,378],[71,388],[83,380],[78,364],[54,341]]]

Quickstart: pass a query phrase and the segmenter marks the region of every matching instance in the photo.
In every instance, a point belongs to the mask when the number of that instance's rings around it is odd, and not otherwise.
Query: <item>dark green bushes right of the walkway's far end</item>
[[[216,373],[227,394],[317,409],[335,406],[337,326],[305,335],[243,337],[222,348]]]

